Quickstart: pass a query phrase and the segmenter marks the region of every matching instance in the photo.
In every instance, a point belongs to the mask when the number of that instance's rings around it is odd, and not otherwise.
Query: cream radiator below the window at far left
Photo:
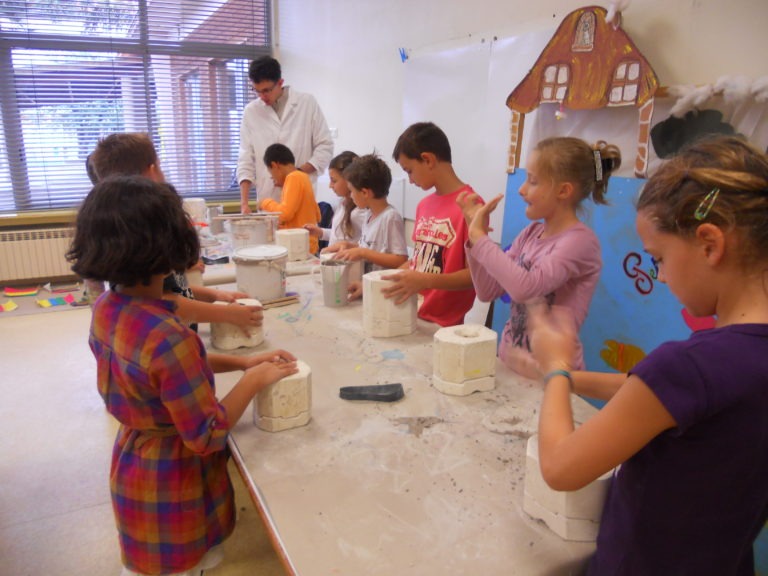
[[[72,276],[64,254],[72,228],[0,232],[0,282]]]

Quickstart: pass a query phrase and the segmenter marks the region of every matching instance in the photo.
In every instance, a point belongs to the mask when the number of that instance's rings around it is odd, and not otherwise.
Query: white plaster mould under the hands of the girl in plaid
[[[299,371],[267,386],[253,399],[253,423],[267,432],[304,426],[312,408],[312,371],[297,361]]]

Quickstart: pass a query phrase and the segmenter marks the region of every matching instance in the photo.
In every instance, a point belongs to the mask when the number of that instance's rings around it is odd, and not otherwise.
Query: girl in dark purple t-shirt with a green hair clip
[[[645,185],[637,232],[658,279],[715,327],[667,342],[630,374],[573,372],[575,334],[535,312],[548,372],[539,461],[555,490],[621,466],[590,576],[754,576],[768,518],[768,157],[700,140]],[[570,394],[607,400],[574,428]]]

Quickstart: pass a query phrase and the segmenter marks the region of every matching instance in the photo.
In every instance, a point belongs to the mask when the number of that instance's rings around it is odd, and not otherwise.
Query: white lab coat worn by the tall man
[[[287,91],[287,96],[282,119],[260,98],[249,102],[243,111],[237,181],[253,182],[259,200],[270,197],[280,201],[281,190],[275,188],[264,165],[264,151],[269,145],[279,142],[288,146],[296,157],[297,167],[305,162],[312,164],[317,170],[309,175],[313,187],[318,174],[333,157],[331,132],[315,98],[292,89]]]

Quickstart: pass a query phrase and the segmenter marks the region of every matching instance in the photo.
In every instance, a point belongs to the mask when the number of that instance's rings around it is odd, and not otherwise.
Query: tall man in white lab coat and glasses
[[[280,63],[271,56],[251,62],[248,77],[259,98],[251,101],[240,124],[240,154],[237,181],[240,183],[240,209],[249,214],[251,187],[256,197],[280,200],[264,164],[264,151],[271,144],[290,148],[299,170],[309,174],[315,186],[318,174],[333,157],[333,140],[320,106],[310,94],[284,85]]]

